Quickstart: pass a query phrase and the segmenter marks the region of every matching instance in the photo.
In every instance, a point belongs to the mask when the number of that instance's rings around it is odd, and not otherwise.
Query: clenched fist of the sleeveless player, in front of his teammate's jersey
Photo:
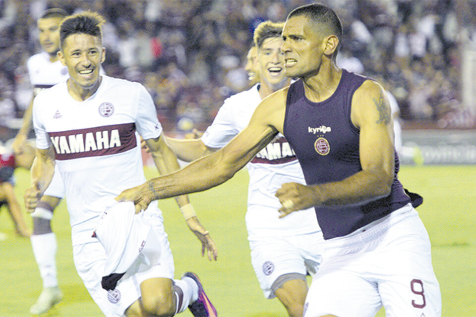
[[[284,183],[275,194],[282,207],[279,217],[287,216],[293,211],[303,210],[315,206],[315,192],[310,186],[298,183]]]

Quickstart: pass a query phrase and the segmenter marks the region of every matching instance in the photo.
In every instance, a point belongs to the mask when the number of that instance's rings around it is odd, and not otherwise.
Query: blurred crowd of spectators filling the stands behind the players
[[[106,74],[143,83],[165,130],[172,131],[210,124],[225,98],[248,87],[243,65],[254,28],[264,20],[284,21],[310,2],[0,0],[1,132],[14,136],[30,101],[26,61],[41,51],[36,20],[45,9],[104,15]],[[332,6],[343,23],[338,64],[383,83],[399,103],[404,127],[475,127],[475,105],[463,102],[462,69],[465,54],[476,51],[476,1],[319,2]]]

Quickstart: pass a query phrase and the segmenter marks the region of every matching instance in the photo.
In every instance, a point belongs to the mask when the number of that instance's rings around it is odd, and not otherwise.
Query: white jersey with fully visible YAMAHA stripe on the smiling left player
[[[162,133],[152,98],[139,83],[102,76],[96,93],[79,102],[61,82],[34,99],[33,126],[37,148],[56,152],[73,245],[94,241],[106,202],[145,182],[139,134]]]

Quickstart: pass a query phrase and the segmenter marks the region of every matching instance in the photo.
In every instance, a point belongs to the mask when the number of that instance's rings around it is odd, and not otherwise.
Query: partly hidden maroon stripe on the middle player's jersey
[[[251,163],[284,164],[297,160],[296,154],[285,137],[274,139],[251,159]]]

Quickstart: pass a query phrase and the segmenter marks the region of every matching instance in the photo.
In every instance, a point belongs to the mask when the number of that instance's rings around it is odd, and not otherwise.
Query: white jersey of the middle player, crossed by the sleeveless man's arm
[[[222,148],[248,125],[261,102],[259,84],[226,99],[213,123],[201,137],[210,148]],[[274,196],[283,183],[305,184],[301,167],[288,141],[280,133],[248,164],[248,212],[246,227],[249,238],[289,236],[320,231],[313,208],[279,218],[279,200]],[[265,206],[276,210],[250,207]]]

